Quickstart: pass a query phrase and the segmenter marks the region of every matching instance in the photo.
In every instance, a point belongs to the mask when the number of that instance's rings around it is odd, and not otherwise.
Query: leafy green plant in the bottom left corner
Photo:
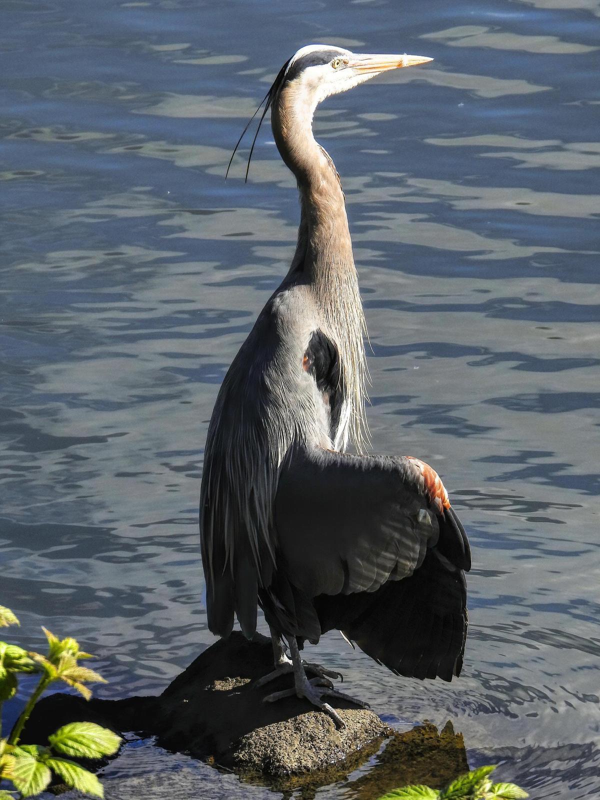
[[[0,606],[0,628],[18,624],[13,612]],[[0,800],[34,797],[46,789],[53,772],[67,786],[103,798],[104,790],[98,778],[77,762],[62,757],[102,758],[116,753],[122,740],[112,730],[94,722],[71,722],[49,736],[46,745],[19,744],[36,702],[52,683],[65,682],[86,700],[92,694],[86,683],[106,683],[97,672],[78,663],[93,656],[79,650],[75,639],[59,639],[50,630],[42,630],[48,639],[46,655],[0,642],[0,783],[12,785],[8,789],[0,788]],[[40,678],[10,734],[2,738],[2,703],[14,698],[19,673],[37,673]]]

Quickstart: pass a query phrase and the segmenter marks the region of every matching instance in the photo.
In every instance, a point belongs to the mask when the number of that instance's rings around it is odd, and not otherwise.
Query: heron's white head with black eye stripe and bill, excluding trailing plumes
[[[271,90],[293,87],[310,110],[318,103],[382,72],[433,61],[420,55],[376,55],[352,53],[331,45],[307,45],[282,67]],[[274,98],[273,98],[274,99]]]

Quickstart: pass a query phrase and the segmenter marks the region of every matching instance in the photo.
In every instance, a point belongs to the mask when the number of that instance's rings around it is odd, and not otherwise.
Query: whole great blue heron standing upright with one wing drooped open
[[[397,674],[450,681],[466,639],[469,543],[438,474],[418,458],[364,454],[365,319],[342,186],[312,132],[330,94],[429,61],[311,45],[275,78],[262,116],[270,107],[298,182],[298,245],[226,374],[206,440],[210,630],[228,636],[235,614],[252,638],[261,606],[275,658],[262,682],[294,674],[293,690],[266,699],[295,693],[338,725],[325,698],[351,698],[334,690],[337,673],[302,662],[305,640],[338,629]],[[345,454],[349,441],[358,455]]]

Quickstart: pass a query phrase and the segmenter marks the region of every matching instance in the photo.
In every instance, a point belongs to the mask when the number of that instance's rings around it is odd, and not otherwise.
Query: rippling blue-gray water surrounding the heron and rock
[[[266,125],[307,42],[434,57],[316,120],[346,190],[374,449],[426,458],[470,533],[450,685],[342,638],[315,659],[402,721],[450,718],[532,798],[600,793],[600,2],[3,0],[0,603],[154,693],[212,637],[197,506],[218,385],[286,272],[298,201]],[[488,751],[493,750],[493,753]],[[107,796],[262,798],[144,745]],[[319,790],[350,798],[350,784]]]

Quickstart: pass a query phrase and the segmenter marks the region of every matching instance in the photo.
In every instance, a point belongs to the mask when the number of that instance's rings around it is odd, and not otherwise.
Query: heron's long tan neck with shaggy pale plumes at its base
[[[313,112],[310,99],[293,85],[280,91],[271,111],[275,143],[296,176],[302,206],[290,277],[302,275],[302,282],[314,294],[327,332],[338,346],[350,402],[347,434],[360,453],[368,444],[363,344],[366,323],[342,186],[334,162],[314,139]]]

